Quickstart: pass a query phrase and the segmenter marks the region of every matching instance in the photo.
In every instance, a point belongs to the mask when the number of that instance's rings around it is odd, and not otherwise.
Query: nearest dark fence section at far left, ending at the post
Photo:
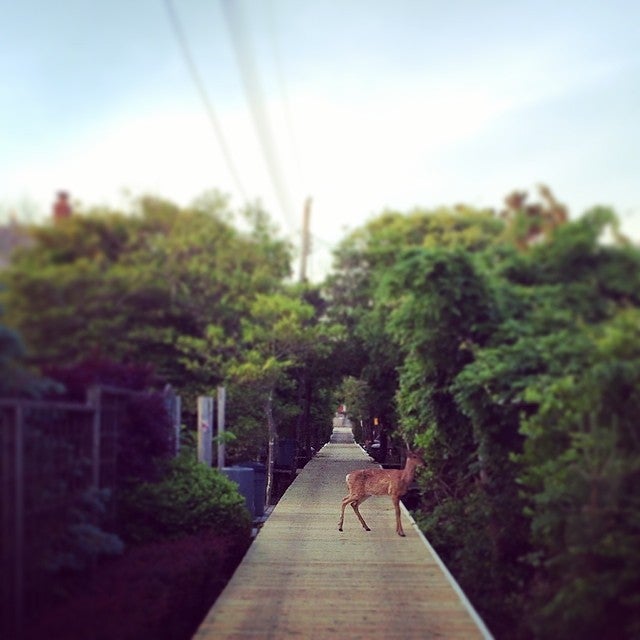
[[[0,401],[5,631],[17,635],[23,594],[37,598],[69,513],[91,484],[93,413],[84,405]]]

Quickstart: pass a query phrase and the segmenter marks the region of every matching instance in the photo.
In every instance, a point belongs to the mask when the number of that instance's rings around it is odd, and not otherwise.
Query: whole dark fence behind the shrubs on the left
[[[114,488],[130,400],[94,387],[88,402],[0,400],[0,637],[19,637],[24,613],[63,562],[64,539],[90,488]]]

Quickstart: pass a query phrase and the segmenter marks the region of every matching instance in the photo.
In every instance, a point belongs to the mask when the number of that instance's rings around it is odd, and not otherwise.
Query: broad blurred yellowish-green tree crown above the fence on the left
[[[198,341],[212,323],[237,336],[253,296],[288,275],[289,248],[266,235],[257,210],[258,230],[239,232],[219,197],[187,209],[154,198],[135,206],[34,227],[32,246],[2,274],[7,321],[37,363],[150,363],[174,387],[202,392],[222,377],[194,366]]]

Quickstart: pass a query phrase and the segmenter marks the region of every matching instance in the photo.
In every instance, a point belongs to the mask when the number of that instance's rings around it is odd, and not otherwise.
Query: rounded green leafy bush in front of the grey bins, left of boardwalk
[[[195,460],[192,452],[161,465],[162,479],[125,490],[122,535],[132,542],[178,538],[204,529],[246,533],[251,517],[236,485]]]

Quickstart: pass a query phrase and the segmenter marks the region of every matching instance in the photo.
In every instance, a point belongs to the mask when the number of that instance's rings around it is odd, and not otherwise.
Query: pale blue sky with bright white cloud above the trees
[[[0,0],[0,222],[215,188],[297,242],[311,196],[313,277],[385,208],[542,182],[638,241],[639,43],[631,0]]]

